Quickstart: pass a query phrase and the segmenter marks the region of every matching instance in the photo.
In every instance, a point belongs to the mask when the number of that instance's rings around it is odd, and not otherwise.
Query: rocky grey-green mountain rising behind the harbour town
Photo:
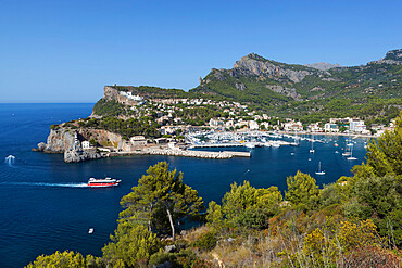
[[[386,114],[402,107],[402,50],[361,66],[286,64],[255,53],[212,68],[190,92],[248,103],[278,116]]]

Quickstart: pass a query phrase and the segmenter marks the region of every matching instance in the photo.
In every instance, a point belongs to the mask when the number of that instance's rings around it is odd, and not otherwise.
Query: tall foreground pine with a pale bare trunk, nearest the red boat
[[[141,215],[149,230],[154,226],[163,226],[161,221],[167,219],[173,238],[180,219],[203,209],[203,201],[198,192],[183,182],[183,173],[177,174],[176,169],[168,171],[166,162],[149,167],[147,175],[138,180],[138,186],[122,199],[121,204],[126,208],[121,214],[123,219],[138,219],[138,215]]]

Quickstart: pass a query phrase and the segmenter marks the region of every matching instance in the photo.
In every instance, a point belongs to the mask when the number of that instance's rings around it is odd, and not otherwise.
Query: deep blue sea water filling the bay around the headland
[[[0,267],[23,267],[40,254],[64,250],[100,256],[116,228],[121,197],[130,192],[150,165],[161,161],[184,171],[184,181],[205,202],[219,202],[234,181],[277,186],[284,191],[286,178],[297,170],[311,174],[319,186],[331,183],[351,175],[350,169],[365,155],[365,139],[353,140],[353,156],[359,159],[348,162],[341,156],[346,138],[317,136],[327,142],[314,143],[314,154],[309,153],[311,143],[304,140],[298,148],[255,148],[251,158],[233,159],[128,156],[65,164],[61,154],[30,151],[46,141],[51,124],[87,117],[92,106],[0,104]],[[326,170],[324,176],[314,174],[318,162]],[[104,176],[121,179],[121,186],[86,187],[89,177]],[[92,234],[88,234],[89,228],[95,229]]]

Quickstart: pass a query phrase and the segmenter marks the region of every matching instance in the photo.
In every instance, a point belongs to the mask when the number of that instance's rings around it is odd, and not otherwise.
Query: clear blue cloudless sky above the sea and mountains
[[[251,52],[360,65],[402,48],[402,1],[0,0],[0,102],[96,102],[104,85],[191,89]]]

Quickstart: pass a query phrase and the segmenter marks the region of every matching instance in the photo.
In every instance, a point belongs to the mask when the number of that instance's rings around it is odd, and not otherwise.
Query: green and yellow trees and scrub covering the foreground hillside
[[[402,113],[353,174],[319,189],[299,171],[284,195],[277,187],[234,183],[203,215],[184,175],[159,163],[122,199],[101,257],[56,252],[27,267],[400,267]],[[180,233],[185,219],[205,225]]]

